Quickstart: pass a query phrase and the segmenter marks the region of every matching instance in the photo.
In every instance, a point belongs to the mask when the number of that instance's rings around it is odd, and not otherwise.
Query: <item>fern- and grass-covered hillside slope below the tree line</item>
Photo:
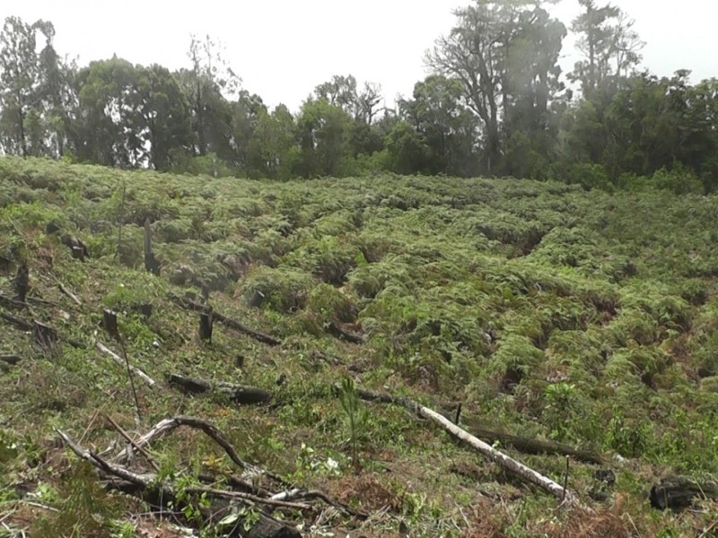
[[[513,179],[273,183],[2,159],[0,520],[15,531],[0,536],[174,535],[159,534],[146,506],[103,490],[56,429],[101,452],[121,439],[109,419],[138,438],[179,415],[210,421],[287,487],[369,516],[275,507],[305,534],[701,534],[715,503],[673,514],[644,492],[669,474],[718,473],[716,217],[714,197]],[[144,271],[145,222],[159,276]],[[75,258],[63,234],[89,258]],[[26,301],[15,298],[23,263]],[[203,294],[211,343],[188,308]],[[118,314],[120,343],[103,308]],[[57,342],[39,345],[23,320]],[[156,381],[133,377],[139,418],[124,362],[98,343]],[[189,395],[171,375],[215,390]],[[600,455],[569,466],[593,511],[556,510],[400,405],[357,403],[347,378],[451,415],[461,404],[468,431]],[[236,404],[220,383],[271,401]],[[563,456],[497,446],[563,482]],[[166,506],[165,519],[219,533],[192,487],[236,472],[223,450],[194,429],[149,450],[136,468],[153,462],[181,486],[173,507],[184,513]],[[247,528],[260,508],[250,512]]]

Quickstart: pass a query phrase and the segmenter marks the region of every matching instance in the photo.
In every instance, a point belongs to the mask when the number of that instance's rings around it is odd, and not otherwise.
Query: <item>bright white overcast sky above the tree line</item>
[[[333,74],[379,82],[389,101],[410,95],[425,76],[424,52],[451,29],[451,10],[470,0],[204,0],[192,3],[157,0],[0,0],[0,18],[51,21],[60,54],[80,65],[117,54],[135,64],[158,63],[171,69],[188,65],[190,33],[223,42],[224,56],[267,105],[284,102],[295,111]],[[670,75],[680,68],[692,80],[718,77],[714,51],[715,0],[617,0],[635,18],[647,42],[644,66]],[[577,0],[552,8],[570,25]],[[572,44],[564,44],[563,64],[574,62]]]

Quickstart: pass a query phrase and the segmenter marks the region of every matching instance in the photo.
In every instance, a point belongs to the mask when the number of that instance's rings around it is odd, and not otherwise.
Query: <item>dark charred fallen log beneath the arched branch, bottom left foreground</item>
[[[80,445],[75,443],[74,440],[70,438],[70,436],[68,436],[65,432],[61,430],[56,431],[60,438],[63,439],[66,446],[74,452],[75,456],[78,456],[89,464],[92,464],[92,466],[99,469],[102,473],[119,479],[119,481],[110,481],[110,487],[114,486],[117,489],[121,489],[127,492],[131,491],[136,494],[142,494],[141,496],[145,500],[150,501],[151,504],[153,504],[157,508],[167,508],[170,502],[174,506],[182,507],[184,505],[187,505],[187,500],[179,499],[180,496],[178,495],[178,493],[180,492],[180,488],[173,483],[160,480],[155,473],[134,473],[132,471],[129,471],[126,467],[123,467],[122,465],[113,464],[107,460],[104,460],[103,458],[101,458],[101,456],[94,454],[92,451],[81,447]],[[275,508],[292,508],[296,510],[305,510],[311,508],[311,506],[307,504],[293,503],[274,499],[263,499],[255,495],[250,495],[248,493],[242,493],[239,491],[217,490],[204,486],[184,488],[182,489],[182,492],[190,493],[193,495],[204,495],[206,496],[206,498],[213,499],[214,501],[216,501],[217,499],[231,500],[232,503],[238,505],[238,508],[251,507],[255,504],[265,504]],[[146,494],[146,496],[144,494]],[[183,495],[182,498],[186,499],[186,496]],[[211,506],[210,508],[205,508],[201,506],[193,508],[197,509],[199,513],[203,516],[203,519],[205,519],[208,523],[215,519],[215,516],[218,512],[227,512],[231,509],[231,505],[227,505],[226,503],[223,503],[221,507],[218,507],[215,502],[213,502],[212,505],[213,506]],[[272,516],[267,516],[267,514],[258,510],[247,510],[247,512],[251,515],[244,516],[241,510],[236,512],[236,523],[238,525],[237,528],[243,528],[244,524],[247,523],[247,528],[245,529],[244,533],[241,534],[243,536],[247,536],[249,538],[301,537],[301,534],[299,534],[296,529],[279,522]],[[258,518],[258,520],[256,523],[250,523],[249,521],[245,521],[246,517]]]

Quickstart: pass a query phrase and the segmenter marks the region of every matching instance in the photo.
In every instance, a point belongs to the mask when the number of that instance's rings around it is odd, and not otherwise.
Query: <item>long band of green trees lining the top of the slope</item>
[[[474,0],[427,51],[430,74],[384,108],[381,84],[320,82],[292,113],[242,89],[208,37],[188,66],[78,66],[51,22],[0,33],[0,151],[120,168],[250,178],[399,174],[555,178],[584,187],[718,186],[718,80],[658,77],[616,5]],[[573,34],[580,59],[563,73]]]

